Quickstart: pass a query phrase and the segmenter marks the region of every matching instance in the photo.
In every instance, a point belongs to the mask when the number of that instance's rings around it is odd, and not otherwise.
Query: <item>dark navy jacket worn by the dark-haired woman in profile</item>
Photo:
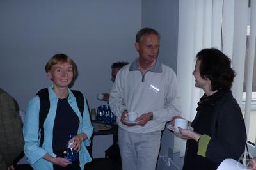
[[[196,127],[196,120],[201,119],[200,121],[204,122],[204,115],[211,114],[207,115],[209,117],[206,118],[206,126],[200,127],[206,129],[199,129],[208,132],[206,135],[209,135],[211,140],[207,146],[206,157],[196,154],[196,141],[187,141],[184,169],[216,169],[226,158],[239,160],[246,146],[246,128],[241,109],[231,91],[218,92],[212,102],[199,105],[197,110],[192,126]],[[198,116],[199,113],[202,116]]]

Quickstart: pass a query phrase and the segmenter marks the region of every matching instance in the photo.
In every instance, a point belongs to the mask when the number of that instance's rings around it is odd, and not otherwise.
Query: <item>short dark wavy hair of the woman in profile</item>
[[[200,60],[200,75],[211,80],[212,91],[231,89],[236,72],[231,68],[231,60],[218,49],[202,49],[196,55]]]

